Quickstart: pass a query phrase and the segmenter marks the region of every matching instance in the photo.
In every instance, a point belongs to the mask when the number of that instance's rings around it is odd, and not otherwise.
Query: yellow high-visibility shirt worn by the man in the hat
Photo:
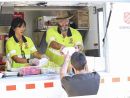
[[[46,55],[50,60],[59,66],[63,64],[64,57],[61,55],[60,50],[49,47],[52,41],[56,41],[66,47],[74,47],[76,45],[83,46],[81,34],[76,29],[69,27],[67,37],[63,37],[57,26],[54,26],[46,32],[46,42],[48,44]]]

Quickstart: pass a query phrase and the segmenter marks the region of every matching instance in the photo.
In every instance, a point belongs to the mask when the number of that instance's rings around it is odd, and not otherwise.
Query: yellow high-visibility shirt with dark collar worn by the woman
[[[6,42],[6,55],[9,58],[12,58],[13,56],[17,55],[19,58],[30,58],[31,54],[36,52],[37,49],[35,48],[31,38],[22,36],[23,43],[20,46],[20,43],[16,36],[10,37]],[[16,63],[12,59],[11,66],[13,68],[20,68],[24,67],[26,64],[22,63]]]

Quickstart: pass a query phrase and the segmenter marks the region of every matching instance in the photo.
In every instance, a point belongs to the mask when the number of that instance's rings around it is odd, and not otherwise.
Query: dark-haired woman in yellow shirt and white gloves
[[[13,68],[38,65],[39,59],[45,57],[37,51],[31,38],[23,35],[25,28],[23,19],[17,17],[12,20],[9,39],[6,42],[6,55],[11,59]],[[35,58],[30,59],[31,55]]]

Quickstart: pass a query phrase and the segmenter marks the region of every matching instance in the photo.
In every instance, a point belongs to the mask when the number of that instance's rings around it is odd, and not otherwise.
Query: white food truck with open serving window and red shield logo
[[[54,16],[58,10],[77,13],[76,29],[83,36],[89,70],[95,70],[101,76],[97,95],[73,98],[129,98],[130,3],[128,1],[1,1],[0,34],[7,34],[12,17],[20,15],[27,22],[28,33],[25,35],[30,36],[37,48],[44,52],[46,27],[44,23],[39,24],[41,20],[38,19],[44,17],[45,21],[45,17]],[[85,17],[82,13],[87,13],[85,21],[79,17]],[[59,74],[41,74],[1,78],[0,97],[67,98],[67,94],[61,86]]]

